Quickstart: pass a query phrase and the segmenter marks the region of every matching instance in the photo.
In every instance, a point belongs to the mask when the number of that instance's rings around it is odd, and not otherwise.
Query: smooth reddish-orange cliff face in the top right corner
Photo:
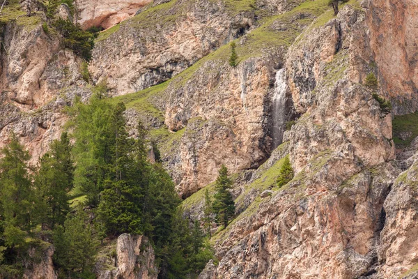
[[[381,92],[393,100],[395,112],[417,110],[417,1],[370,1],[367,27],[378,65]]]

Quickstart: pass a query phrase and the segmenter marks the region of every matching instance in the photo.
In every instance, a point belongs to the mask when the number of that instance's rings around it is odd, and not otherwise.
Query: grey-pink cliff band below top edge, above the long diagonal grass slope
[[[102,35],[90,70],[95,80],[106,79],[115,95],[146,89],[245,33],[253,20],[254,13],[231,17],[219,1],[150,6]]]

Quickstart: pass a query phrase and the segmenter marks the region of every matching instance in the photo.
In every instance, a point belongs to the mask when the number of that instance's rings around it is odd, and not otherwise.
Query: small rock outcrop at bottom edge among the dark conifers
[[[121,234],[116,250],[98,258],[95,273],[98,279],[156,279],[154,250],[145,236]]]

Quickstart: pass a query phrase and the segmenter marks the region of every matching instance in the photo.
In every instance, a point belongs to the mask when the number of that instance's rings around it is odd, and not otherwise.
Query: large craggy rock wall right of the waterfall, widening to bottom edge
[[[302,114],[285,135],[295,179],[215,237],[222,259],[201,278],[397,278],[417,264],[415,165],[401,174],[391,115],[361,84],[373,59],[368,11],[347,5],[289,50]]]

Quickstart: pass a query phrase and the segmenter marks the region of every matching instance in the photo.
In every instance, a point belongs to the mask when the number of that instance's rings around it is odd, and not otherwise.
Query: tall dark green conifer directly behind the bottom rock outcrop
[[[142,206],[147,188],[146,162],[142,144],[129,138],[123,116],[125,105],[116,105],[112,119],[115,137],[111,173],[104,181],[98,213],[108,234],[142,234]]]

